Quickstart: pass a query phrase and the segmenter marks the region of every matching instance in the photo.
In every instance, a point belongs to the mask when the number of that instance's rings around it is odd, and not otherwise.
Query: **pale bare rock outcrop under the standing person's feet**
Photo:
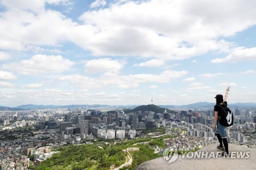
[[[223,156],[218,156],[217,152],[220,152],[217,148],[217,144],[211,144],[201,150],[196,151],[197,154],[207,153],[208,156],[202,156],[200,158],[195,157],[196,153],[194,153],[194,157],[190,158],[192,154],[187,156],[179,155],[178,159],[172,163],[165,163],[165,160],[160,157],[157,159],[153,159],[147,162],[140,164],[136,170],[153,170],[153,169],[161,169],[161,170],[169,170],[169,169],[256,169],[256,149],[249,149],[242,147],[236,144],[229,144],[229,151],[233,153],[230,158],[226,158]],[[211,152],[212,155],[210,156]],[[244,158],[238,158],[239,152],[242,151],[242,154],[247,152]],[[246,158],[248,157],[249,158]],[[207,157],[207,158],[205,158]],[[210,157],[210,158],[209,158]]]

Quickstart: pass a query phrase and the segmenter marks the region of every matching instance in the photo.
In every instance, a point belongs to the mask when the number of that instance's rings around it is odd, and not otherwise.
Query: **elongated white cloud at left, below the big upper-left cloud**
[[[20,75],[58,74],[69,70],[75,63],[62,56],[37,54],[28,60],[2,65],[4,69],[16,71]]]

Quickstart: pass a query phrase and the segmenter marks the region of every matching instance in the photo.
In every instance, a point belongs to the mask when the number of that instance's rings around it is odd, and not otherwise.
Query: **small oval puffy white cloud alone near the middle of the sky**
[[[122,69],[123,65],[116,60],[109,58],[101,58],[95,60],[89,60],[84,65],[87,72],[117,72]]]

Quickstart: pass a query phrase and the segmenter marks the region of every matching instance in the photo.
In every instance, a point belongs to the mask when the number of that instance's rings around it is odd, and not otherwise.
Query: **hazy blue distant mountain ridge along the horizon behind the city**
[[[167,109],[172,109],[172,108],[212,108],[214,107],[215,103],[208,103],[208,102],[198,102],[198,103],[193,103],[193,104],[188,104],[188,105],[158,105],[159,107],[162,108],[167,108]],[[146,105],[144,105],[146,106]],[[156,106],[156,105],[155,105]],[[125,108],[125,109],[135,109],[136,107],[139,107],[139,105],[63,105],[63,106],[57,106],[57,105],[33,105],[33,104],[28,104],[28,105],[20,105],[17,107],[7,107],[7,106],[0,106],[0,110],[31,110],[31,109],[58,109],[58,108]],[[256,108],[255,103],[228,103],[229,108]]]

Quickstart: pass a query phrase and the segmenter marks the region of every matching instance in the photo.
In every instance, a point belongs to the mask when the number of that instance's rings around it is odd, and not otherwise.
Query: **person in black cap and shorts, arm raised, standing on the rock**
[[[217,146],[218,149],[225,151],[222,153],[222,156],[225,154],[229,154],[228,152],[228,142],[227,142],[227,135],[226,135],[226,127],[220,124],[220,118],[222,113],[222,107],[227,107],[227,96],[229,92],[230,87],[226,89],[226,93],[224,96],[223,101],[223,95],[217,94],[215,96],[216,98],[216,105],[214,106],[214,132],[220,142],[220,145]],[[217,127],[216,127],[217,126]],[[224,147],[223,147],[224,145]]]

